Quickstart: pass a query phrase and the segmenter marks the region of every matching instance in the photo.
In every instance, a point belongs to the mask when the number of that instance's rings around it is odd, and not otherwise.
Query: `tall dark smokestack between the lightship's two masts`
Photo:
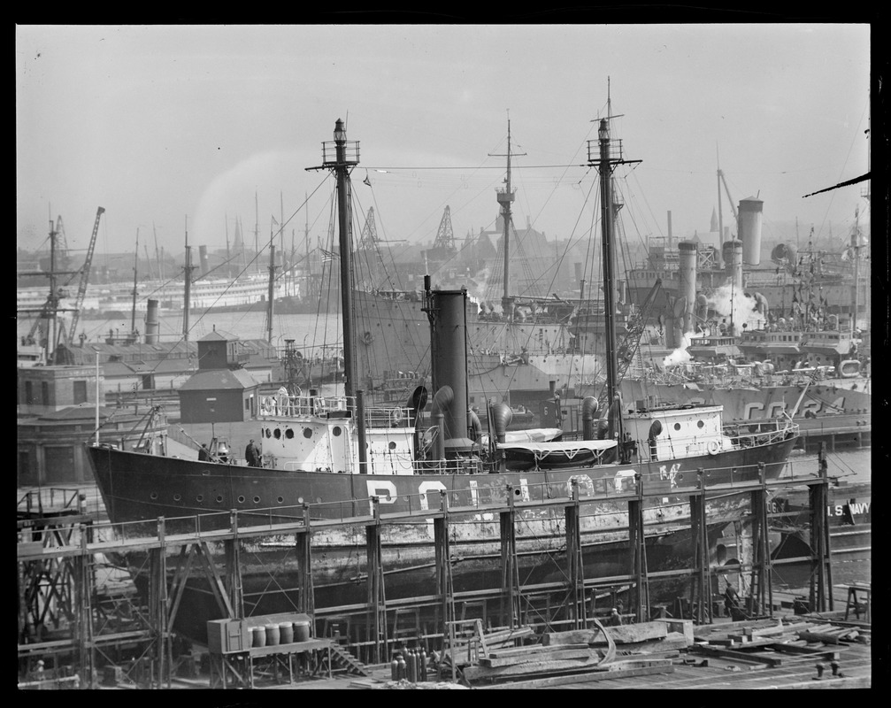
[[[467,418],[467,320],[466,290],[435,290],[433,309],[432,377],[434,390],[450,387],[454,398],[444,411],[446,457],[454,457],[472,448],[468,438]]]

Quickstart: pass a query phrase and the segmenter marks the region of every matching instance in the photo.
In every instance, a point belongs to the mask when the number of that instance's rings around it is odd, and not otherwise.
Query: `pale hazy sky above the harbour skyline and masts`
[[[458,238],[491,228],[509,118],[515,223],[569,238],[591,221],[608,86],[642,233],[668,211],[675,236],[707,231],[719,158],[768,236],[796,218],[840,235],[865,183],[803,197],[870,169],[870,41],[868,24],[18,26],[17,243],[61,216],[85,249],[102,206],[100,251],[137,229],[141,252],[153,230],[176,253],[186,228],[223,247],[236,218],[263,243],[282,210],[286,243],[308,222],[315,244],[332,182],[307,168],[339,118],[381,239],[431,242],[446,206]]]

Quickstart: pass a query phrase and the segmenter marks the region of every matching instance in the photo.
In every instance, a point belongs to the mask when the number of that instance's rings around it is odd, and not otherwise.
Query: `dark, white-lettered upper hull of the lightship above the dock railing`
[[[239,512],[244,523],[252,517],[265,523],[292,521],[302,518],[304,503],[312,505],[314,518],[368,515],[372,494],[380,497],[381,509],[388,513],[408,513],[437,507],[439,490],[446,491],[451,507],[503,502],[508,485],[521,487],[531,501],[568,497],[571,479],[579,477],[584,498],[615,490],[617,472],[640,473],[645,494],[683,495],[697,486],[699,470],[706,487],[757,482],[759,463],[764,463],[766,479],[777,479],[796,441],[790,434],[785,440],[716,455],[629,465],[373,477],[218,465],[102,446],[88,446],[87,455],[111,522],[151,522],[163,516],[173,529],[171,523],[184,518],[184,528],[192,530],[192,517],[200,515],[200,528],[210,530],[228,528],[231,510]],[[153,533],[148,525],[141,531]]]

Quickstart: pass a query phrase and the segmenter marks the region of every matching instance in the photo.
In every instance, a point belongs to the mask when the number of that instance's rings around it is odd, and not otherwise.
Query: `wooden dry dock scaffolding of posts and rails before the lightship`
[[[831,564],[829,530],[826,517],[826,487],[828,478],[825,463],[821,473],[803,477],[801,483],[810,488],[813,536],[818,542],[810,558],[812,564],[811,608],[831,610]],[[478,593],[455,593],[452,582],[452,563],[449,547],[449,527],[457,515],[478,513],[481,506],[450,508],[446,492],[441,493],[441,503],[437,509],[421,510],[411,515],[382,514],[380,505],[373,504],[373,513],[366,516],[315,521],[310,519],[311,508],[302,507],[302,518],[292,523],[243,526],[237,514],[231,515],[230,528],[224,531],[194,531],[191,533],[168,534],[164,519],[159,519],[155,532],[144,538],[125,539],[110,537],[109,527],[94,523],[78,515],[29,515],[19,521],[19,543],[17,547],[19,579],[19,657],[20,664],[27,664],[37,656],[62,655],[74,657],[80,685],[94,686],[94,677],[105,664],[113,664],[115,653],[110,647],[127,642],[141,647],[141,656],[146,667],[143,680],[146,687],[171,687],[175,670],[175,632],[173,626],[180,601],[183,597],[186,580],[195,574],[208,580],[219,614],[225,618],[245,617],[244,594],[241,585],[241,541],[258,539],[264,536],[293,534],[294,551],[300,569],[299,589],[296,593],[297,611],[314,617],[317,622],[334,619],[348,613],[363,613],[369,620],[367,640],[363,650],[372,663],[388,661],[394,646],[400,643],[404,633],[399,627],[400,614],[415,613],[422,606],[436,610],[437,627],[427,634],[443,646],[452,623],[460,622],[456,605],[470,605],[479,600],[500,600],[500,622],[508,628],[516,628],[527,619],[533,600],[544,595],[560,592],[563,601],[561,623],[547,620],[545,627],[552,629],[560,625],[566,629],[584,629],[593,617],[594,607],[589,599],[598,589],[615,586],[630,590],[632,605],[629,607],[636,622],[650,620],[650,580],[653,578],[689,577],[692,582],[692,619],[699,625],[712,622],[713,597],[712,580],[716,569],[709,567],[708,539],[706,525],[706,498],[717,492],[733,492],[750,495],[753,519],[754,554],[750,566],[738,565],[721,572],[735,570],[750,571],[751,587],[756,606],[772,617],[772,561],[769,553],[767,531],[767,491],[774,484],[788,482],[767,482],[762,474],[760,482],[723,485],[718,489],[705,487],[702,476],[690,488],[677,490],[690,499],[690,530],[694,539],[692,567],[668,572],[649,572],[644,546],[643,506],[648,498],[642,481],[637,480],[634,490],[612,493],[609,500],[625,502],[628,509],[628,532],[630,539],[629,572],[626,575],[611,576],[607,579],[587,579],[582,563],[582,534],[580,530],[581,509],[584,504],[599,500],[598,497],[580,498],[577,484],[568,498],[554,498],[544,502],[517,500],[508,489],[507,501],[503,504],[485,506],[487,513],[497,514],[501,526],[501,587]],[[659,495],[661,496],[661,495]],[[524,586],[519,581],[516,524],[520,512],[529,508],[544,506],[561,507],[566,523],[567,567],[566,580],[535,587]],[[388,523],[405,522],[408,519],[426,518],[433,524],[437,592],[433,597],[414,598],[414,601],[388,601],[384,590],[384,564],[382,562],[382,529]],[[312,577],[314,531],[340,524],[364,525],[367,558],[367,603],[364,606],[320,608],[314,605]],[[217,567],[211,555],[210,544],[221,543],[225,548],[222,569]],[[176,556],[168,553],[176,550]],[[102,622],[98,606],[99,580],[96,574],[95,558],[102,554],[143,551],[149,558],[147,576],[148,604],[140,613],[141,624],[126,632],[111,631],[108,622]],[[175,558],[175,560],[174,560]],[[173,567],[168,567],[174,563]],[[169,571],[169,572],[168,572]],[[465,607],[467,605],[464,605]],[[57,617],[56,615],[63,615]],[[46,640],[39,629],[47,622],[56,626],[64,625],[67,619],[68,638]],[[421,629],[420,622],[415,624]]]

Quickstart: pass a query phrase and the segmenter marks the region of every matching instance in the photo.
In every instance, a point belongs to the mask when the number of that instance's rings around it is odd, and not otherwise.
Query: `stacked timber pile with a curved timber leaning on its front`
[[[473,687],[517,688],[670,673],[674,658],[692,642],[689,620],[609,628],[594,622],[589,630],[528,634],[520,646],[495,646],[504,633],[480,636],[478,653],[461,665],[462,679]],[[453,655],[457,660],[459,654]]]

